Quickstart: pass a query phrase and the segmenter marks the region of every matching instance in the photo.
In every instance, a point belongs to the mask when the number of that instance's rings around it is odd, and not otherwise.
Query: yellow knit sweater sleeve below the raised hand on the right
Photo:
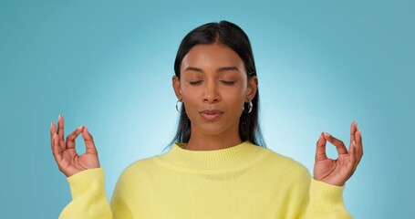
[[[344,186],[335,186],[311,179],[306,219],[352,218],[343,203]]]

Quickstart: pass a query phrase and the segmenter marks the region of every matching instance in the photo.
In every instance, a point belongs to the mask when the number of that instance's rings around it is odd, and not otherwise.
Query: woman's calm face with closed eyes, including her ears
[[[192,134],[239,136],[244,102],[254,99],[257,79],[246,76],[243,60],[223,44],[196,45],[182,60],[173,87],[192,123]]]

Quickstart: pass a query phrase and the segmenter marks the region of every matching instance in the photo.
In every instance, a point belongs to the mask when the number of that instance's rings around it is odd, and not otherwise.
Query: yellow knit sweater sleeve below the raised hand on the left
[[[59,219],[65,218],[112,218],[104,187],[102,168],[78,172],[67,178],[72,201],[67,204]]]

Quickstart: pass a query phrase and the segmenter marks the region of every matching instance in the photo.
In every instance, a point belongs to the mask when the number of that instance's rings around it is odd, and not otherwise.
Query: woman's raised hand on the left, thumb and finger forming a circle
[[[84,154],[78,155],[75,149],[75,140],[80,133],[82,133],[87,150]],[[88,169],[99,168],[98,151],[87,127],[78,127],[67,136],[67,141],[65,141],[64,119],[59,116],[57,125],[52,122],[50,126],[50,139],[57,166],[67,177]]]

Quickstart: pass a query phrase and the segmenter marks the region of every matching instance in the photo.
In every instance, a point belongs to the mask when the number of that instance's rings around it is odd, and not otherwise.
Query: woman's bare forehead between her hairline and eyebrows
[[[196,45],[182,60],[182,68],[222,68],[234,66],[243,69],[244,62],[232,48],[223,44]]]

